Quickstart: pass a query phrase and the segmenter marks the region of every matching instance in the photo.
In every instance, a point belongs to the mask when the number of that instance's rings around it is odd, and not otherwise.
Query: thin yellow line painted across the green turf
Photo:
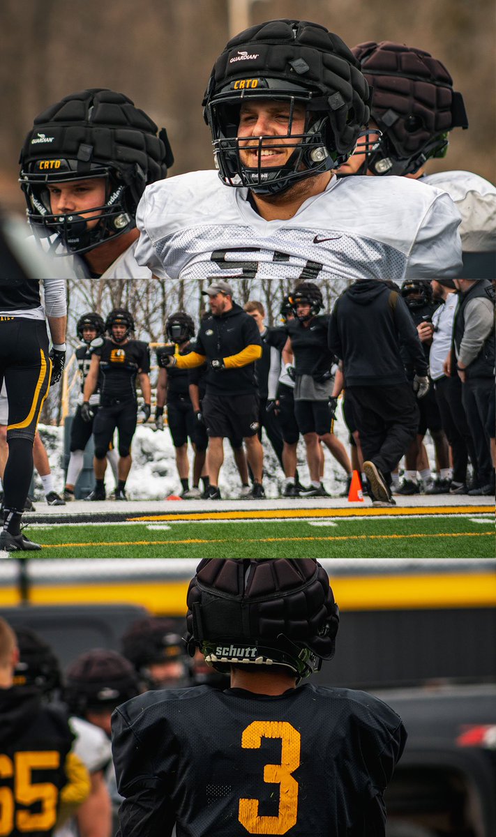
[[[411,537],[487,537],[494,535],[494,531],[439,531],[439,532],[416,532],[406,535],[306,535],[297,537],[244,537],[243,543],[274,543],[289,541],[391,541],[397,539],[409,539]],[[230,537],[184,537],[170,541],[89,541],[81,543],[45,543],[44,549],[65,549],[67,547],[162,547],[169,543],[231,543]]]

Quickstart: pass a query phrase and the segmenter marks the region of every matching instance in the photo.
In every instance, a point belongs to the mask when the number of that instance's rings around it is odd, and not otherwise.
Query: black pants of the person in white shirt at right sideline
[[[439,377],[434,382],[434,391],[442,429],[452,449],[453,480],[466,483],[468,459],[476,470],[477,458],[462,404],[462,382],[458,376]]]

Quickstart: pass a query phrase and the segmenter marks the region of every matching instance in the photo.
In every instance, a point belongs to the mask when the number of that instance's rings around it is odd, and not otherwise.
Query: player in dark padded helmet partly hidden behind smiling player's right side
[[[425,163],[445,157],[448,133],[468,127],[462,95],[441,61],[422,49],[382,41],[353,49],[373,88],[367,147],[358,146],[340,174],[406,175],[447,192],[462,216],[463,267],[457,276],[492,279],[496,274],[496,187],[473,172],[426,172]],[[368,153],[362,153],[368,151]]]

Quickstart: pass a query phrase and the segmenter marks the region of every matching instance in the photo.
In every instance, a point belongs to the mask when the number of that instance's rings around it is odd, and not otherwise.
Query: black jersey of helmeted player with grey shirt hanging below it
[[[332,367],[334,356],[328,349],[329,320],[328,314],[319,314],[306,325],[296,317],[287,322],[296,375],[318,377]]]

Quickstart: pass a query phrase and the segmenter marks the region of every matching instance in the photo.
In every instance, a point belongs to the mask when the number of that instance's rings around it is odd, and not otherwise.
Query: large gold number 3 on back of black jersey
[[[238,819],[249,834],[286,834],[297,822],[298,783],[292,777],[300,766],[300,733],[287,721],[253,721],[243,731],[241,747],[258,749],[262,738],[280,738],[281,764],[266,764],[264,782],[281,785],[276,817],[258,815],[258,799],[240,799]]]

